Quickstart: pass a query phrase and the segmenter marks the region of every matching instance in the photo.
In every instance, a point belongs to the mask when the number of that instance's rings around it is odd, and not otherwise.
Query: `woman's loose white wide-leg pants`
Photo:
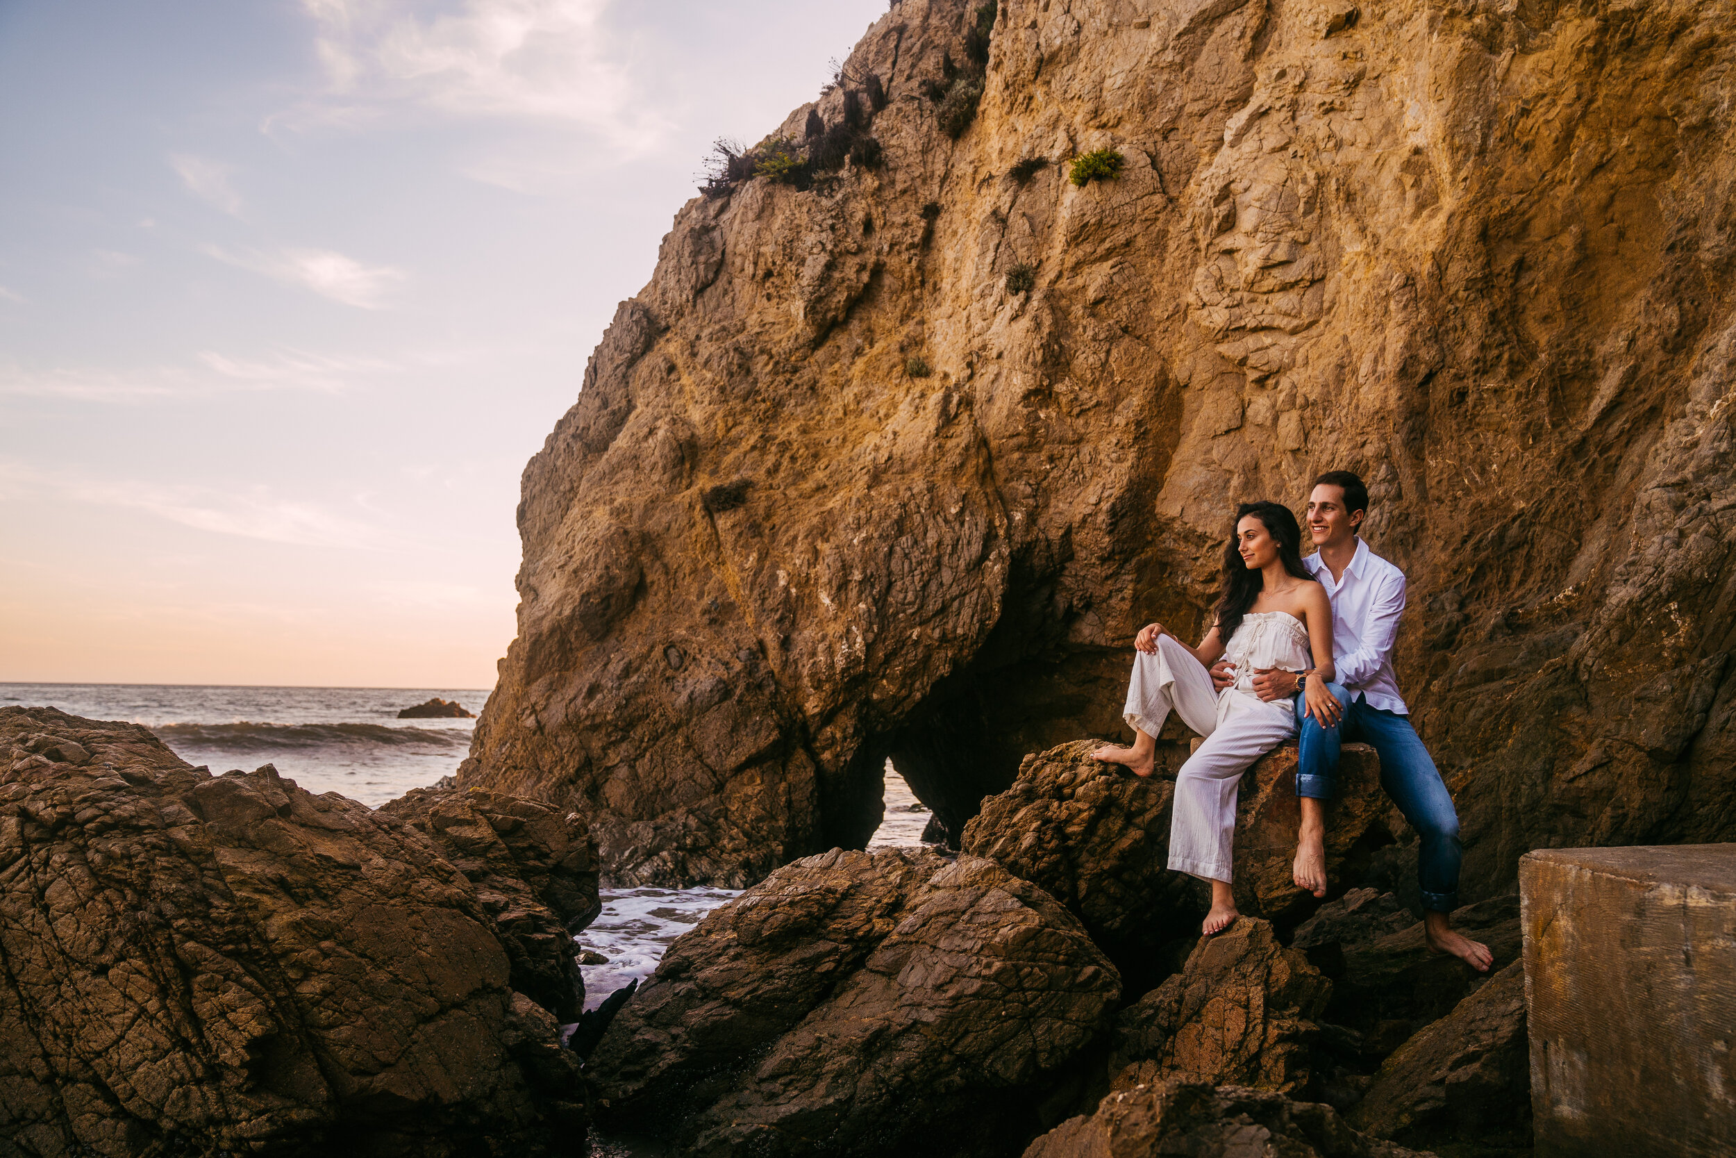
[[[1175,774],[1170,811],[1170,868],[1229,880],[1236,839],[1236,795],[1241,774],[1257,759],[1297,734],[1290,700],[1266,703],[1246,691],[1212,691],[1212,674],[1170,635],[1158,637],[1156,655],[1134,655],[1127,686],[1127,722],[1156,736],[1170,710],[1205,736],[1205,743]]]

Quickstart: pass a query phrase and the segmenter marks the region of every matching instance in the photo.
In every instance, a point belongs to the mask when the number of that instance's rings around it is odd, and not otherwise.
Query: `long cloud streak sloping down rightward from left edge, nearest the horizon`
[[[0,495],[49,491],[99,507],[139,510],[212,535],[257,538],[299,547],[387,549],[399,536],[354,514],[300,497],[281,497],[266,486],[163,486],[137,479],[97,479],[47,474],[0,464]]]

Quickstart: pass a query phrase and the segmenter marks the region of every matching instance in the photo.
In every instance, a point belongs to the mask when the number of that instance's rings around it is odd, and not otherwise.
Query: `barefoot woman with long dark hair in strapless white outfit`
[[[1212,911],[1201,925],[1208,936],[1238,917],[1229,863],[1241,773],[1297,734],[1295,698],[1264,701],[1253,693],[1253,677],[1272,668],[1295,672],[1307,712],[1316,719],[1337,717],[1338,705],[1326,693],[1337,674],[1332,602],[1302,566],[1300,547],[1302,528],[1288,507],[1243,503],[1236,510],[1236,533],[1224,545],[1224,592],[1212,630],[1198,648],[1189,648],[1161,623],[1141,628],[1123,708],[1139,740],[1132,748],[1106,745],[1092,752],[1097,760],[1151,776],[1158,733],[1170,708],[1205,736],[1175,774],[1170,868],[1212,882]],[[1219,694],[1208,668],[1226,656],[1234,684]]]

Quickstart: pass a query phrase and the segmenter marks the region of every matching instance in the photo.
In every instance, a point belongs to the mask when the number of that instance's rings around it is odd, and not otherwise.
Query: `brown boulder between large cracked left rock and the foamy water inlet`
[[[602,911],[597,847],[573,813],[481,788],[415,788],[378,813],[462,872],[512,958],[512,988],[562,1023],[585,1009],[573,934]]]

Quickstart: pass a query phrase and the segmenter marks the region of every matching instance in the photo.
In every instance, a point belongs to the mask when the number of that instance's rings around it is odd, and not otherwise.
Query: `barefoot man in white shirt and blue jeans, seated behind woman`
[[[1404,573],[1371,552],[1356,533],[1366,516],[1368,488],[1359,477],[1328,470],[1314,479],[1307,530],[1318,550],[1302,563],[1332,599],[1338,682],[1326,688],[1344,714],[1342,719],[1314,719],[1297,698],[1302,830],[1295,882],[1299,889],[1326,896],[1326,800],[1338,773],[1338,745],[1361,740],[1380,755],[1380,786],[1422,837],[1418,882],[1429,948],[1488,972],[1495,960],[1488,946],[1453,932],[1450,924],[1448,915],[1458,905],[1458,813],[1399,696],[1392,651],[1404,613]],[[1212,674],[1220,675],[1219,670]],[[1262,670],[1255,674],[1253,689],[1262,700],[1285,698],[1297,691],[1304,675]]]

